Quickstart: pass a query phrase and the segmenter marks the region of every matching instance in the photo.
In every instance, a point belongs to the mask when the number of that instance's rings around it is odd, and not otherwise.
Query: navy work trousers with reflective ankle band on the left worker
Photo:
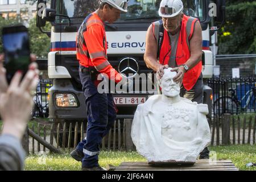
[[[99,166],[98,154],[102,138],[108,134],[114,124],[117,109],[113,96],[110,93],[98,93],[89,73],[79,72],[82,90],[88,115],[86,138],[78,145],[77,150],[84,152],[82,167],[92,168]]]

